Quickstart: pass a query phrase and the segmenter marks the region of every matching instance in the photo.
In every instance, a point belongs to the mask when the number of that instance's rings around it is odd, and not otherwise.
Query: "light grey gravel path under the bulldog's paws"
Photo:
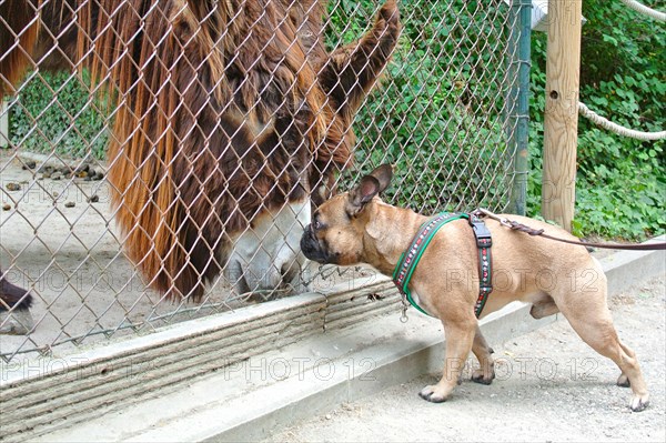
[[[417,392],[421,376],[343,404],[272,435],[269,442],[664,442],[666,441],[666,289],[658,278],[612,300],[618,334],[634,349],[650,406],[628,409],[613,362],[596,354],[566,320],[495,349],[497,379],[463,382],[446,403]]]

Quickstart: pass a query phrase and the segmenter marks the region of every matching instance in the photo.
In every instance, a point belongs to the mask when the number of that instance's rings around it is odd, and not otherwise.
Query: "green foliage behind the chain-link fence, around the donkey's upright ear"
[[[357,39],[377,6],[334,3],[330,47]],[[492,3],[401,3],[398,48],[354,124],[357,169],[397,167],[390,201],[425,212],[506,203],[501,79],[507,9]]]

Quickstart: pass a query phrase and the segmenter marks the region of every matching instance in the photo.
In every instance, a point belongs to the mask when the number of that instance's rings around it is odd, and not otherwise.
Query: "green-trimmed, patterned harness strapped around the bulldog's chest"
[[[470,222],[470,225],[474,231],[474,236],[476,238],[476,246],[478,248],[480,281],[478,298],[476,299],[476,304],[474,305],[474,314],[477,319],[481,316],[483,306],[485,306],[488,295],[493,291],[491,255],[491,246],[493,245],[493,241],[491,239],[491,231],[488,231],[485,223],[478,218],[478,215],[480,214],[476,212],[442,212],[421,225],[418,232],[414,236],[414,240],[412,240],[410,248],[400,256],[397,265],[393,271],[393,283],[395,283],[397,290],[403,295],[403,319],[405,319],[405,312],[407,309],[405,300],[408,301],[412,306],[416,308],[417,311],[426,315],[431,315],[423,308],[421,308],[412,296],[408,288],[410,281],[412,280],[412,274],[418,265],[418,261],[421,260],[423,252],[433,240],[433,236],[435,236],[440,228],[448,222],[461,219],[465,219]]]

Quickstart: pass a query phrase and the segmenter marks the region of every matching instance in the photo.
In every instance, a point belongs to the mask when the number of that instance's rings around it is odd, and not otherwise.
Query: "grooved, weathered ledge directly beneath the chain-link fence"
[[[0,440],[27,440],[163,395],[324,331],[326,315],[372,315],[394,305],[376,275],[102,343],[73,354],[0,362]],[[369,302],[369,293],[377,300]],[[326,296],[330,295],[330,298]],[[374,300],[374,299],[373,299]],[[340,320],[332,319],[331,328]]]

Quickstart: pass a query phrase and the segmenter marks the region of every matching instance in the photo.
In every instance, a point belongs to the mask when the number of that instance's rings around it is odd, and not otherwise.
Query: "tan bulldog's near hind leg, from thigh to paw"
[[[613,360],[620,369],[619,385],[630,385],[634,396],[629,407],[643,411],[649,403],[649,393],[643,379],[636,354],[623,344],[613,325],[613,318],[606,303],[606,279],[592,291],[579,291],[562,299],[559,308],[569,324],[583,341],[599,354]]]

